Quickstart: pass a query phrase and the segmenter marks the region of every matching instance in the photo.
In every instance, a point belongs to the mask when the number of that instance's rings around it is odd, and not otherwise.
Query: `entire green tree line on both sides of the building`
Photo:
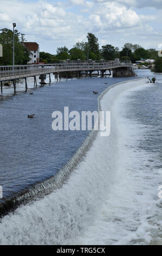
[[[0,29],[0,43],[3,45],[3,58],[0,58],[0,65],[13,64],[13,31],[7,28]],[[40,62],[59,63],[60,60],[131,60],[135,63],[141,59],[155,59],[154,70],[162,72],[162,57],[154,48],[145,49],[138,44],[127,42],[122,50],[113,45],[107,44],[99,48],[98,38],[95,34],[88,33],[86,42],[76,42],[69,50],[66,46],[58,47],[57,54],[40,52]],[[24,47],[25,35],[15,29],[15,64],[24,65],[30,60],[29,51]]]

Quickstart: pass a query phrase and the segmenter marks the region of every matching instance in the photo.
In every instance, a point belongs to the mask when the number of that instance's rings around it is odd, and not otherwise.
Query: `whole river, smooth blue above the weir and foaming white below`
[[[111,135],[97,135],[63,186],[3,217],[1,244],[162,243],[162,76],[149,70],[138,70],[138,76],[155,76],[158,83],[128,89],[117,98],[105,94],[102,109],[113,101]],[[130,78],[61,81],[38,88],[33,95],[18,93],[2,100],[3,201],[59,173],[89,135],[53,131],[53,111],[63,112],[64,106],[70,111],[97,110],[92,90],[101,94],[126,80]],[[35,118],[28,119],[30,113]]]

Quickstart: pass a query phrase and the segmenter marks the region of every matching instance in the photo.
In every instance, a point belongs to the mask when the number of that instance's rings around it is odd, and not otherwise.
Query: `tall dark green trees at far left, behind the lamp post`
[[[0,59],[1,65],[13,64],[13,31],[8,28],[0,30],[0,43],[3,45],[3,58]],[[23,65],[29,62],[29,51],[24,47],[24,34],[15,29],[15,64]]]

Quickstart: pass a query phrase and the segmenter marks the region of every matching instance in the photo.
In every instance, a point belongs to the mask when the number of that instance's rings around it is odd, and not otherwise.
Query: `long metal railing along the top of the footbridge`
[[[56,63],[43,65],[15,65],[15,66],[0,66],[0,80],[3,77],[19,78],[22,76],[35,76],[61,71],[77,71],[77,70],[103,70],[111,69],[114,66],[132,66],[130,62],[120,63],[109,61],[107,63]]]

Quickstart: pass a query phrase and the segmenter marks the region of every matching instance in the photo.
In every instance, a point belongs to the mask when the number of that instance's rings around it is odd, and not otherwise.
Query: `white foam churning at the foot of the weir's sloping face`
[[[150,127],[132,120],[130,123],[125,115],[127,105],[131,103],[128,100],[129,96],[147,87],[148,84],[123,92],[111,108],[117,142],[113,185],[109,186],[95,223],[74,243],[162,244],[162,200],[158,198],[158,186],[162,184],[162,170],[154,167],[157,159],[155,153],[139,150],[138,147]],[[117,90],[117,87],[114,89]],[[108,94],[110,96],[111,92]],[[104,110],[109,108],[107,101],[109,96],[107,96],[102,101]]]

